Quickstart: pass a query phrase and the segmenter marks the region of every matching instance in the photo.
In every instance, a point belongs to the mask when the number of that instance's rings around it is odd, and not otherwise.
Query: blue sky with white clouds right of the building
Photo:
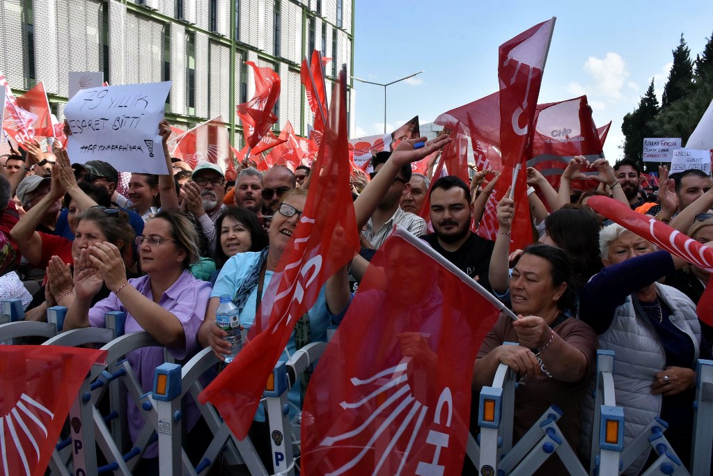
[[[622,158],[622,118],[651,79],[659,101],[683,33],[692,59],[713,33],[713,1],[356,0],[353,76],[389,83],[386,129],[421,124],[498,88],[498,46],[557,17],[539,103],[586,94],[610,120],[607,159]],[[356,135],[384,131],[384,88],[354,81]]]

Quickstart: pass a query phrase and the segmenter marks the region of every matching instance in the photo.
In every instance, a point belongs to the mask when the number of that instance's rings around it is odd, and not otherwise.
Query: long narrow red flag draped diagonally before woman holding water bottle
[[[359,250],[349,193],[346,85],[342,70],[332,90],[329,124],[313,167],[304,214],[267,286],[249,341],[199,395],[201,403],[210,401],[217,407],[237,438],[247,435],[267,378],[295,322],[317,301],[327,278]],[[259,328],[265,331],[258,333]]]

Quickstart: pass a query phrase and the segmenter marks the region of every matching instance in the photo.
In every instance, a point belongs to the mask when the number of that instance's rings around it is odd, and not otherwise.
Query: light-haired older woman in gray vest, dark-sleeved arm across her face
[[[618,224],[600,232],[600,252],[605,268],[580,293],[579,315],[594,328],[600,348],[615,351],[614,386],[617,405],[626,413],[625,445],[660,416],[669,424],[667,440],[687,464],[694,368],[697,358],[710,358],[710,349],[701,337],[693,302],[656,282],[686,262],[655,252],[650,242]],[[592,402],[588,399],[587,405]],[[588,435],[593,408],[584,415]],[[647,455],[626,474],[637,474]]]

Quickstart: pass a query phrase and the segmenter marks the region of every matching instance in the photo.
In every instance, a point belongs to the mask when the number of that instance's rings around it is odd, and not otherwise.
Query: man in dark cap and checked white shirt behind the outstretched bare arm
[[[391,157],[391,152],[378,152],[371,159],[371,165],[374,167],[371,178],[374,178],[379,173],[379,170],[384,167],[389,157]],[[399,224],[409,230],[416,237],[426,234],[426,221],[416,214],[404,212],[399,205],[401,195],[404,195],[411,188],[409,180],[411,180],[411,164],[406,164],[401,167],[399,173],[394,177],[391,187],[379,202],[379,206],[376,207],[369,221],[366,222],[363,233],[364,239],[374,249],[379,249],[381,244],[384,244],[386,238],[394,230],[395,224]]]

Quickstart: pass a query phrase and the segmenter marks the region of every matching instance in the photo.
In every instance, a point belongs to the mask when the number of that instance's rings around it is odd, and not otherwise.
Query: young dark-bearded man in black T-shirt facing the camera
[[[431,224],[435,233],[424,241],[441,256],[477,279],[490,291],[488,268],[494,243],[471,232],[471,190],[453,175],[441,177],[431,187]]]

